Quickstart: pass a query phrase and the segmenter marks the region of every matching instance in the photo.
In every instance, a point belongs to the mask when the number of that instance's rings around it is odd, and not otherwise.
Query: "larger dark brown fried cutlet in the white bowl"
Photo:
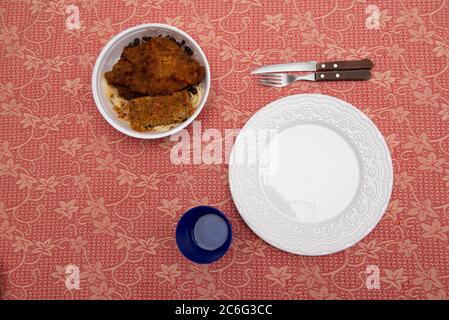
[[[179,44],[162,37],[126,47],[112,71],[105,73],[125,99],[170,95],[199,84],[204,75],[204,67]]]

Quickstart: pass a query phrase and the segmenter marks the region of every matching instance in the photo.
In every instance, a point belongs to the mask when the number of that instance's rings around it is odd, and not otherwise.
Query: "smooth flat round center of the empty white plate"
[[[280,213],[300,222],[331,219],[353,201],[360,165],[351,144],[332,128],[298,124],[271,139],[261,163],[265,196]],[[263,171],[261,171],[263,172]]]

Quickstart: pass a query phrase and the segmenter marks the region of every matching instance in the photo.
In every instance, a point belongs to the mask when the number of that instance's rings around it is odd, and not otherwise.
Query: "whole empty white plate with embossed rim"
[[[271,245],[324,255],[364,238],[390,200],[390,152],[354,106],[320,94],[274,101],[243,127],[229,164],[232,197]]]

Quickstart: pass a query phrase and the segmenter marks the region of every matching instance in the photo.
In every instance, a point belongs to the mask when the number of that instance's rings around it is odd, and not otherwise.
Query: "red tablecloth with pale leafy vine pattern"
[[[448,2],[375,2],[377,29],[363,0],[2,1],[1,297],[448,298]],[[79,30],[66,28],[69,4],[80,9]],[[367,114],[395,171],[369,236],[329,256],[284,253],[240,218],[226,164],[173,165],[169,139],[113,129],[93,102],[92,67],[108,39],[147,22],[177,26],[204,49],[212,90],[203,129],[241,128],[296,93],[329,94]],[[366,57],[376,64],[369,82],[274,89],[249,75],[270,63]],[[174,239],[182,212],[199,204],[220,208],[234,229],[230,251],[208,266],[187,261]],[[69,264],[79,267],[79,290],[66,288]],[[371,270],[378,289],[366,286]]]

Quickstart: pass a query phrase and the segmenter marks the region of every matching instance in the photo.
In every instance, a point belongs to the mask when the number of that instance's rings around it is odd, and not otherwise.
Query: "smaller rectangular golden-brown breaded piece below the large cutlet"
[[[182,122],[194,111],[187,90],[166,96],[132,99],[123,109],[131,127],[136,131],[148,131]]]

